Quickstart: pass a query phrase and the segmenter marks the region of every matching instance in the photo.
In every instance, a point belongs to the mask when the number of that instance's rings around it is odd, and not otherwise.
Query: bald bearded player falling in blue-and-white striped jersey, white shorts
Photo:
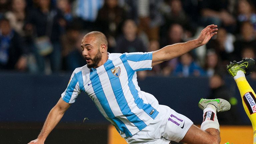
[[[81,92],[92,98],[102,115],[114,125],[129,144],[219,144],[216,113],[230,109],[223,99],[202,99],[204,119],[201,129],[187,117],[140,90],[136,72],[151,70],[154,65],[181,56],[206,44],[217,34],[217,25],[209,25],[197,39],[168,45],[154,52],[108,53],[106,36],[98,31],[86,34],[81,42],[87,65],[71,75],[67,89],[52,108],[38,138],[29,144],[42,144],[71,103]]]

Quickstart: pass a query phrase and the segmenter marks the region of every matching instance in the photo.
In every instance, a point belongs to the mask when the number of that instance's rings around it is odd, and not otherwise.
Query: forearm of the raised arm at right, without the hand
[[[201,43],[202,42],[198,41],[197,39],[194,39],[185,43],[177,43],[177,44],[165,46],[163,48],[165,53],[165,61],[179,57],[201,46]]]

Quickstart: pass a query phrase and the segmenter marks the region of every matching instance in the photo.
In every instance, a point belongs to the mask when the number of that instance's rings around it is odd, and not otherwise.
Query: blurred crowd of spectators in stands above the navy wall
[[[86,64],[80,44],[90,31],[107,36],[110,53],[148,52],[216,24],[218,34],[205,46],[138,76],[227,75],[229,61],[256,58],[255,6],[250,0],[0,0],[0,70],[73,71]]]

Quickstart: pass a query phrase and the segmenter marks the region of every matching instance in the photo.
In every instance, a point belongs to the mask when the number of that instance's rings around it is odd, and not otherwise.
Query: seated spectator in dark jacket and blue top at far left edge
[[[25,71],[28,49],[8,19],[0,20],[0,69]]]

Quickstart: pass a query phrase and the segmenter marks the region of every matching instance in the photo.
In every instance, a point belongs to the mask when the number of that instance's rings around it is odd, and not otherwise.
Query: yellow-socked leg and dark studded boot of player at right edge
[[[256,144],[256,95],[245,78],[245,75],[250,74],[249,71],[253,68],[254,64],[254,59],[245,58],[240,62],[230,62],[230,65],[227,66],[227,70],[236,81],[237,87],[240,91],[244,110],[251,120],[254,131],[253,144]]]

